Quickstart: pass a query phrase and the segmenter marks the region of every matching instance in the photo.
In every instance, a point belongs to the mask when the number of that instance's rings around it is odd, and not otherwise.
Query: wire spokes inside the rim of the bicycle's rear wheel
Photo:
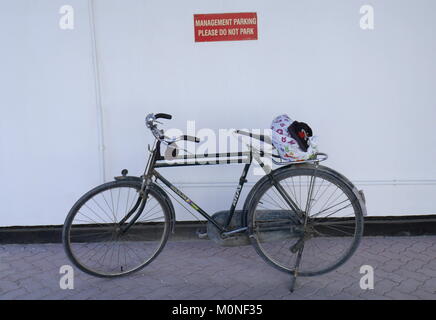
[[[279,183],[298,208],[305,209],[304,219],[292,219],[296,212],[282,193],[267,189],[253,213],[253,232],[260,250],[275,265],[292,271],[301,247],[300,272],[331,269],[350,252],[357,235],[355,208],[343,185],[335,178],[310,174],[290,175]],[[288,217],[284,218],[286,211]]]

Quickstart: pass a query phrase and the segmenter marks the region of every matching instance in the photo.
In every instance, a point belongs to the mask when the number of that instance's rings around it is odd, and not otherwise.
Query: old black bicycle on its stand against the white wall
[[[301,162],[283,162],[274,152],[267,154],[249,144],[246,152],[178,155],[176,142],[200,140],[187,135],[165,136],[157,120],[171,118],[164,113],[146,117],[155,139],[153,147],[149,146],[142,176],[128,176],[124,169],[114,181],[83,195],[68,213],[63,244],[67,256],[80,270],[98,277],[123,276],[144,268],[158,256],[176,222],[171,199],[158,181],[203,216],[211,227],[209,232],[215,230],[221,239],[248,237],[266,262],[291,275],[291,291],[297,276],[330,272],[356,251],[366,215],[364,194],[346,177],[320,164],[327,159],[326,154],[317,153]],[[266,135],[241,130],[235,133],[272,145]],[[162,144],[170,148],[173,163],[162,156]],[[280,168],[272,170],[262,160],[267,156]],[[235,209],[253,160],[265,175],[248,193],[235,225]],[[209,215],[157,171],[234,163],[244,164],[244,168],[224,219]]]

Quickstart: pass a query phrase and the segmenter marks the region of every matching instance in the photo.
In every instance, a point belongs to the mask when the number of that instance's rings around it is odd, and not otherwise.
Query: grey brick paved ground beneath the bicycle
[[[288,276],[251,246],[207,240],[170,241],[151,265],[123,278],[75,270],[74,290],[59,287],[64,264],[60,244],[0,246],[0,299],[436,299],[436,236],[364,238],[348,263],[300,278],[293,294]],[[363,264],[374,267],[373,290],[359,287]]]

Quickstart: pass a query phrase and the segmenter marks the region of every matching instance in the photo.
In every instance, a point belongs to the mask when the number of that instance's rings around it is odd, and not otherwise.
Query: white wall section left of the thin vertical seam
[[[0,225],[60,224],[99,183],[87,1],[0,2]]]

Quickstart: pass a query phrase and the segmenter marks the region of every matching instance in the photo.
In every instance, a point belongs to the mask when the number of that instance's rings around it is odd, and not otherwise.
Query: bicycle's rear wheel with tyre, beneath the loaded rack
[[[324,274],[345,263],[363,233],[362,207],[349,183],[307,165],[281,170],[274,177],[299,212],[291,209],[271,180],[263,182],[247,214],[248,233],[258,254],[275,268],[294,273],[303,244],[300,276]]]

